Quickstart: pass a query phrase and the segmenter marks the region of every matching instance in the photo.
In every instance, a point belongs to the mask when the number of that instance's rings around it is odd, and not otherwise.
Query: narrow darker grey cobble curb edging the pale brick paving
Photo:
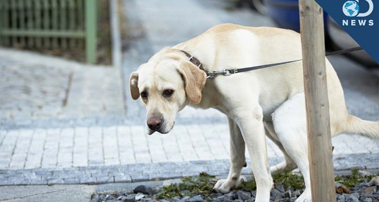
[[[270,165],[283,158],[269,158]],[[378,169],[379,155],[335,155],[335,171],[350,169]],[[129,164],[116,166],[89,166],[51,169],[0,170],[0,185],[53,185],[53,184],[107,184],[156,181],[194,176],[200,172],[220,176],[227,175],[229,160],[191,161],[179,163]],[[242,175],[250,175],[251,164],[242,169]]]

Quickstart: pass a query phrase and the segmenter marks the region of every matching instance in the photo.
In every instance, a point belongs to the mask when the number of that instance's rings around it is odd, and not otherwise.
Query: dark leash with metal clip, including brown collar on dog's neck
[[[325,56],[333,56],[333,55],[346,54],[346,53],[351,53],[351,52],[355,52],[355,51],[360,51],[362,49],[363,48],[360,47],[360,46],[359,47],[353,47],[353,48],[347,48],[347,49],[343,49],[341,51],[335,51],[335,52],[327,53],[327,54],[325,54]],[[202,64],[200,63],[200,61],[198,59],[196,59],[194,56],[189,55],[185,51],[182,51],[182,52],[185,53],[185,55],[188,57],[189,61],[191,61],[192,63],[194,63],[201,70],[205,71],[204,68],[202,67]],[[214,79],[218,75],[229,76],[231,74],[236,74],[236,73],[241,73],[241,72],[248,72],[248,71],[253,71],[253,70],[259,70],[259,69],[263,69],[263,68],[267,68],[267,67],[273,67],[273,66],[278,66],[278,65],[284,65],[284,64],[288,64],[288,63],[298,62],[298,61],[301,61],[301,60],[303,60],[303,59],[293,60],[293,61],[288,61],[288,62],[268,64],[268,65],[259,65],[259,66],[254,66],[254,67],[246,67],[246,68],[240,68],[240,69],[223,69],[221,71],[213,71],[213,72],[206,72],[206,73],[207,73],[207,78]]]

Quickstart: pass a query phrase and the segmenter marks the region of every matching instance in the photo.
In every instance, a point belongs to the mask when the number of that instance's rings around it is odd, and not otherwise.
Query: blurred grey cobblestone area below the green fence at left
[[[36,127],[42,122],[49,125],[50,119],[124,117],[117,68],[83,65],[3,47],[0,61],[3,128]]]

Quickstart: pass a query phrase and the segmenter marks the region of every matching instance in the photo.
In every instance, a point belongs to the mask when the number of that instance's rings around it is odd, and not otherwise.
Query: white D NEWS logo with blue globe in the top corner
[[[372,13],[372,10],[374,9],[374,4],[372,3],[372,0],[361,0],[366,1],[368,3],[368,10],[363,13],[359,10],[359,0],[349,0],[345,2],[345,4],[342,7],[342,11],[347,17],[356,17],[357,19],[345,19],[342,20],[343,26],[372,26],[374,25],[374,20],[370,19],[359,19],[359,17],[367,17]]]

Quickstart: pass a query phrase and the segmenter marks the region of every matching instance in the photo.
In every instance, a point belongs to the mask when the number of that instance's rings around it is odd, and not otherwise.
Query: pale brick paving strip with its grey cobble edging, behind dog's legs
[[[178,125],[167,135],[151,136],[140,125],[2,130],[0,185],[124,182],[201,171],[225,174],[227,131],[226,124]],[[269,139],[267,144],[271,165],[283,160],[276,145]],[[336,170],[379,168],[379,140],[340,135],[333,145]],[[180,170],[183,166],[191,169]]]

